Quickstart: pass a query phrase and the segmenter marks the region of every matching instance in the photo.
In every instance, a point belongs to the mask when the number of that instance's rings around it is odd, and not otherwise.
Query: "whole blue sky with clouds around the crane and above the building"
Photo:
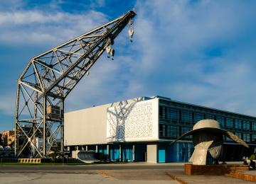
[[[0,1],[0,130],[14,127],[16,79],[31,57],[135,7],[114,61],[102,55],[65,110],[166,96],[256,114],[256,1]]]

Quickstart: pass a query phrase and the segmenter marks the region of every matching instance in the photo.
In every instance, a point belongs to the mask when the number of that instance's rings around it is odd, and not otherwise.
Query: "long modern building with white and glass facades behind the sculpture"
[[[64,144],[70,150],[95,150],[111,160],[186,162],[191,137],[169,145],[199,120],[213,119],[249,144],[225,138],[223,159],[240,161],[256,147],[256,117],[155,96],[124,100],[65,113]]]

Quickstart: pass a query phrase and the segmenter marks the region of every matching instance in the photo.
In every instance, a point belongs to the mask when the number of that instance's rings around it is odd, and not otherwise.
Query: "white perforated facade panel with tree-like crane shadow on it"
[[[153,136],[152,103],[131,103],[107,109],[107,140],[122,142],[127,139]]]

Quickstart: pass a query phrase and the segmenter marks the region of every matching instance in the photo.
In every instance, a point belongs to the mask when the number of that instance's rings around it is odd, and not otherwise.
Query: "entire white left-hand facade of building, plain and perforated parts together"
[[[65,113],[65,146],[159,140],[159,98],[136,98]]]

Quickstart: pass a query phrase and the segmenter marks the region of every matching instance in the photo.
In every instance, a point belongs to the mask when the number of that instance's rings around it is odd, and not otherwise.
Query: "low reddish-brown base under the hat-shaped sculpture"
[[[186,175],[208,175],[218,176],[235,173],[235,171],[248,171],[249,166],[242,164],[218,164],[199,166],[193,164],[185,164],[184,171]]]

